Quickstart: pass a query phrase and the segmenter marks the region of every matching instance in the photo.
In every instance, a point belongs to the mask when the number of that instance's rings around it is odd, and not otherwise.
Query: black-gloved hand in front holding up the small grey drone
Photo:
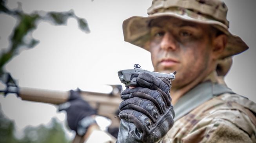
[[[140,73],[138,87],[121,93],[121,118],[117,143],[155,143],[173,125],[170,82],[149,73]]]

